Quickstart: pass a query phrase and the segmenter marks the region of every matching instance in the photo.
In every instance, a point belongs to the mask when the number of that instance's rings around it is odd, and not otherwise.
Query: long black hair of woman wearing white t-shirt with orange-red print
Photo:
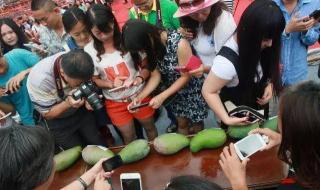
[[[101,32],[108,33],[112,30],[111,26],[113,25],[113,44],[118,51],[122,52],[120,28],[110,7],[94,4],[87,11],[87,18],[87,28],[89,31],[96,26]],[[97,50],[97,57],[101,60],[101,55],[105,53],[103,42],[98,40],[93,34],[92,37],[94,48]]]

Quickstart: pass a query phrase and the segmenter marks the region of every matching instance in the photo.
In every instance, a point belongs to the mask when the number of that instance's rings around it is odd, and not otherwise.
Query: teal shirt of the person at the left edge
[[[31,68],[37,62],[39,57],[24,49],[13,49],[4,55],[8,70],[0,75],[0,86],[5,87],[8,80],[19,74],[21,71]],[[27,78],[27,77],[26,77]],[[12,104],[20,115],[23,125],[33,126],[33,106],[27,91],[26,78],[22,81],[20,89],[8,96],[3,96],[0,101]]]

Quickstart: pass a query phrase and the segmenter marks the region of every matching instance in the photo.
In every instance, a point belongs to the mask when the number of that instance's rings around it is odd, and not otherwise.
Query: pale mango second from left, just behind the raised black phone
[[[83,160],[90,165],[96,164],[101,158],[111,158],[114,153],[106,147],[88,145],[82,150]]]

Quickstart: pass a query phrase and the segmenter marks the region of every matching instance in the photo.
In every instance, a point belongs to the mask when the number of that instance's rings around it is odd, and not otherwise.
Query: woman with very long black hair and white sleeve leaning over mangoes
[[[243,13],[236,34],[214,59],[202,94],[224,124],[243,125],[248,118],[230,117],[223,102],[264,109],[273,94],[279,93],[284,27],[284,17],[274,2],[254,1]]]

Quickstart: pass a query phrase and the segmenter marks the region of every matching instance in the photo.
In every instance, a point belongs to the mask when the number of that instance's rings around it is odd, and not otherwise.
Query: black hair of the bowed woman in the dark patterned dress
[[[162,60],[166,47],[161,42],[161,32],[164,31],[142,20],[129,20],[122,29],[122,44],[131,53],[135,65],[142,60],[139,52],[147,54],[149,70],[154,70],[157,61]]]

